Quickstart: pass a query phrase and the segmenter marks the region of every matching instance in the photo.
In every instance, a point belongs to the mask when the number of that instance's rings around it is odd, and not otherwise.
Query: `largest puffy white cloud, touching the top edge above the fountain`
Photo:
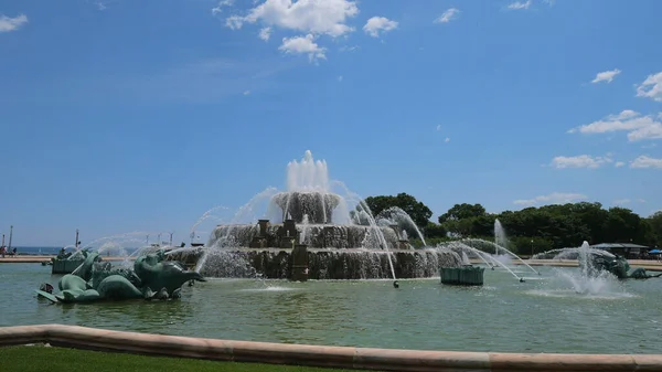
[[[357,13],[356,3],[349,0],[266,0],[246,17],[232,15],[226,24],[236,30],[243,23],[259,21],[268,26],[338,38],[354,30],[345,22]]]

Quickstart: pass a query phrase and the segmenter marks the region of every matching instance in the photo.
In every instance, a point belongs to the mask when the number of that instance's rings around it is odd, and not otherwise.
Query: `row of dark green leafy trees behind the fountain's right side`
[[[604,209],[600,203],[579,202],[488,213],[481,204],[461,203],[433,222],[433,211],[407,193],[369,196],[365,204],[373,215],[387,214],[394,206],[407,212],[428,245],[463,237],[493,240],[494,221],[499,219],[508,234],[509,248],[520,254],[577,247],[584,241],[662,247],[662,211],[642,217],[627,208]],[[416,236],[413,226],[403,224],[403,228],[408,236]],[[415,240],[413,243],[421,245]]]

